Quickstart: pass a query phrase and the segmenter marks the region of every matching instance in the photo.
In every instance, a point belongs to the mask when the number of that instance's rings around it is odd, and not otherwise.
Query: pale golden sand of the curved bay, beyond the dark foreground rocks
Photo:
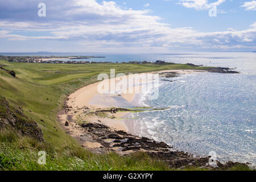
[[[206,71],[199,71],[199,70],[191,70],[191,69],[172,69],[172,70],[164,70],[164,71],[157,71],[157,72],[149,72],[149,73],[177,73],[181,74],[191,74],[191,73],[200,73]],[[143,73],[141,73],[143,74]],[[134,75],[140,76],[141,74]],[[119,81],[123,79],[127,79],[128,76],[122,76],[116,78],[116,80],[108,79],[105,80],[106,82],[115,81],[115,84],[118,84]],[[68,113],[64,115],[59,115],[61,118],[61,122],[71,121],[86,121],[92,123],[102,123],[106,126],[111,127],[115,130],[123,130],[129,131],[129,126],[127,126],[127,122],[125,122],[125,115],[128,114],[128,111],[122,111],[117,113],[109,113],[108,115],[101,113],[101,114],[93,114],[96,110],[102,110],[110,107],[121,107],[119,104],[127,104],[124,106],[130,106],[131,102],[134,100],[135,92],[128,93],[127,90],[122,90],[121,93],[99,93],[98,86],[102,84],[103,81],[96,82],[94,84],[90,84],[88,86],[84,86],[83,88],[77,90],[76,92],[70,94],[68,96],[68,101],[66,103],[67,107],[69,108]],[[143,83],[143,81],[141,82]],[[133,90],[139,87],[138,85],[133,85]],[[110,91],[113,88],[109,88]],[[141,91],[141,87],[137,88],[137,90]],[[119,102],[118,102],[119,101]]]

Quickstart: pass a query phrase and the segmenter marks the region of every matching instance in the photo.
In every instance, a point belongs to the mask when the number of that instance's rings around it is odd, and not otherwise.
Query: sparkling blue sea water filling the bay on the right
[[[129,114],[134,134],[177,150],[218,160],[256,164],[256,56],[254,53],[184,55],[175,62],[237,68],[241,74],[192,73],[160,81],[159,98],[138,100],[153,110]],[[167,79],[167,78],[164,78]],[[148,93],[150,94],[150,93]]]

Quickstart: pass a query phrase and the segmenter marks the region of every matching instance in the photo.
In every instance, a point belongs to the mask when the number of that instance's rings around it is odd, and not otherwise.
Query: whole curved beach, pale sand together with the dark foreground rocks
[[[150,73],[158,73],[159,77],[170,78],[202,72],[208,71],[171,69]],[[139,77],[140,74],[135,75],[134,78],[137,76]],[[120,80],[125,78],[127,76],[119,77],[117,80],[112,78],[105,81],[114,81],[115,84],[118,84]],[[70,94],[65,102],[65,109],[60,111],[58,115],[59,122],[64,127],[66,133],[75,138],[82,147],[98,154],[112,151],[121,155],[127,155],[142,151],[155,155],[160,151],[161,156],[166,155],[166,159],[169,159],[169,152],[171,151],[171,158],[173,158],[175,153],[177,162],[179,160],[185,161],[185,163],[200,161],[201,166],[207,165],[207,157],[200,158],[200,156],[187,152],[177,151],[174,147],[168,146],[164,142],[155,141],[152,138],[143,136],[138,137],[137,134],[134,134],[134,123],[126,118],[132,111],[126,108],[132,108],[134,103],[136,103],[133,102],[134,98],[136,98],[136,93],[126,93],[125,91],[127,90],[125,89],[118,93],[99,93],[98,87],[103,82],[99,81],[84,86]],[[132,87],[135,90],[138,85]],[[141,91],[140,88],[137,90]],[[135,106],[135,108],[144,107]]]

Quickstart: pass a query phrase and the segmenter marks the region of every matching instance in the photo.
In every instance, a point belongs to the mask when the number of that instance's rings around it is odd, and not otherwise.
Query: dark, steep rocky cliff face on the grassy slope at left
[[[42,130],[36,122],[23,114],[22,108],[15,108],[5,97],[0,96],[0,129],[13,127],[20,134],[43,141]]]

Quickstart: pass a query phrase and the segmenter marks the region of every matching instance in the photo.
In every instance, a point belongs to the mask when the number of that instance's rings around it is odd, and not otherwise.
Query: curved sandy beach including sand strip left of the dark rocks
[[[151,74],[158,73],[160,77],[177,76],[191,73],[201,73],[207,71],[191,70],[191,69],[171,69],[163,71],[148,72]],[[130,76],[130,79],[135,79],[141,74]],[[127,133],[133,133],[133,123],[127,122],[126,115],[130,111],[117,111],[117,112],[103,112],[110,108],[123,108],[127,106],[134,106],[135,90],[142,92],[141,84],[148,80],[141,80],[139,85],[132,85],[131,88],[122,89],[121,92],[112,92],[115,88],[110,86],[110,93],[99,93],[98,88],[101,84],[121,82],[123,80],[129,80],[129,76],[121,76],[118,78],[109,78],[107,80],[99,81],[88,86],[80,88],[76,92],[70,94],[66,101],[66,110],[63,113],[59,113],[59,121],[61,125],[65,127],[66,132],[72,137],[76,138],[83,147],[96,152],[102,152],[102,147],[98,139],[94,135],[87,133],[84,135],[85,130],[81,128],[81,123],[93,123],[93,125],[105,125],[110,127],[113,131],[125,131]],[[129,93],[129,89],[134,90],[133,93]],[[116,90],[115,90],[116,91]],[[119,90],[120,91],[120,90]],[[108,141],[106,141],[108,142]],[[119,150],[119,149],[117,149]],[[124,152],[123,154],[126,154]],[[129,153],[129,152],[128,152]],[[127,154],[128,154],[127,153]]]

